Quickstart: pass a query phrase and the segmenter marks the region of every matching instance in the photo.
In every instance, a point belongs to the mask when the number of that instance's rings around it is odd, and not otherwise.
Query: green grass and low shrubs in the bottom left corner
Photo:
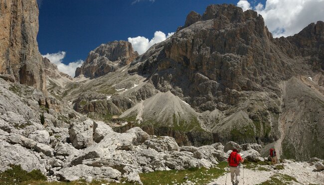
[[[46,181],[47,178],[40,172],[40,170],[33,170],[27,172],[22,170],[20,165],[10,165],[8,169],[0,173],[1,185],[15,185],[26,181]]]

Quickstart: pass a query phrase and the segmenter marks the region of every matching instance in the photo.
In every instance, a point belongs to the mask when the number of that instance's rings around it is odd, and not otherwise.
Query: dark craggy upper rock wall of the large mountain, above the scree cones
[[[140,73],[150,74],[159,90],[187,98],[199,111],[212,111],[237,104],[246,96],[242,91],[278,93],[276,82],[302,73],[300,65],[285,70],[300,62],[281,55],[257,12],[210,5],[201,19],[151,48],[159,57],[140,59]]]

